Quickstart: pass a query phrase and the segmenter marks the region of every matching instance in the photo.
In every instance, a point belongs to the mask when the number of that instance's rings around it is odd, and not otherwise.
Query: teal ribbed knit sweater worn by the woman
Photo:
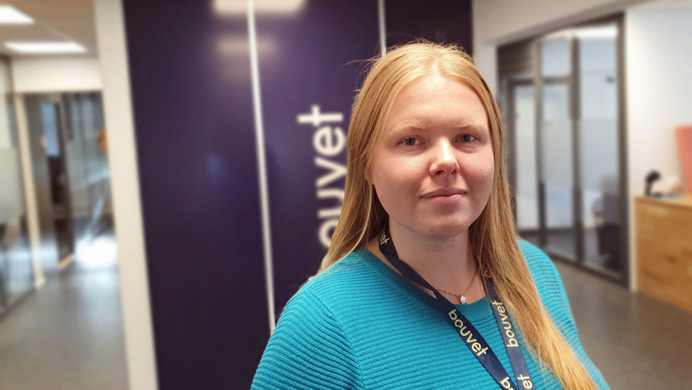
[[[520,247],[556,325],[599,387],[608,389],[579,342],[557,269],[537,247],[527,242],[520,242]],[[487,297],[456,306],[511,375]],[[554,375],[523,350],[534,387],[559,389]],[[496,389],[499,385],[444,313],[435,309],[432,296],[360,249],[306,283],[286,304],[252,388]]]

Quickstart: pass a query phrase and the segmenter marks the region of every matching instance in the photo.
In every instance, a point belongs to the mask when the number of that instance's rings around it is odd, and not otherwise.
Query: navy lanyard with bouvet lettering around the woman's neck
[[[462,337],[468,349],[471,350],[473,355],[475,355],[480,364],[483,365],[493,379],[500,384],[502,389],[528,390],[534,387],[534,384],[531,382],[531,375],[529,375],[529,368],[524,359],[524,354],[519,346],[515,328],[511,319],[509,319],[507,308],[505,308],[504,303],[500,301],[498,294],[495,292],[495,285],[486,272],[482,273],[482,277],[485,282],[488,298],[493,308],[493,313],[495,314],[495,321],[498,323],[498,328],[504,340],[504,347],[507,349],[507,355],[509,355],[509,362],[512,365],[512,370],[516,375],[520,387],[514,385],[509,374],[507,374],[507,370],[504,369],[504,366],[502,366],[498,357],[480,335],[480,332],[471,325],[471,321],[468,321],[468,319],[464,317],[464,314],[459,312],[453,303],[448,301],[435,289],[435,287],[432,287],[430,283],[415,272],[410,265],[399,259],[397,249],[394,248],[394,242],[392,242],[389,228],[385,228],[385,230],[380,233],[379,242],[382,254],[385,255],[387,260],[389,260],[399,272],[401,272],[404,278],[430,290],[430,292],[437,296],[437,303],[440,310],[446,314],[447,319],[455,330],[457,330],[459,336]]]

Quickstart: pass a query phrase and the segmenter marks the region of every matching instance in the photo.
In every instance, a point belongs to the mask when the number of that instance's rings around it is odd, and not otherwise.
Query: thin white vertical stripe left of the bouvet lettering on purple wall
[[[255,30],[255,4],[248,0],[248,39],[250,41],[250,73],[255,116],[255,145],[257,145],[257,175],[260,183],[260,212],[262,213],[262,246],[264,249],[264,283],[269,334],[274,332],[274,272],[271,256],[271,219],[269,218],[269,186],[264,155],[264,123],[262,122],[262,96],[260,96],[260,66],[257,60],[257,31]]]

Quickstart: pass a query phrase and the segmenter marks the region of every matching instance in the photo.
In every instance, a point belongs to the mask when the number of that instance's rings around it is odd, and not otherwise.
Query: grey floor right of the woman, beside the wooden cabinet
[[[556,263],[579,338],[611,389],[692,389],[692,314]]]

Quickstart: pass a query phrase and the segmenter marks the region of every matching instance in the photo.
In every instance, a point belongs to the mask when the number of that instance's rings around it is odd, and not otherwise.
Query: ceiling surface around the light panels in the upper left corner
[[[5,47],[8,41],[75,41],[96,55],[96,28],[92,0],[0,0],[34,19],[34,24],[0,24],[0,53],[26,57]],[[44,54],[37,54],[44,55]]]

